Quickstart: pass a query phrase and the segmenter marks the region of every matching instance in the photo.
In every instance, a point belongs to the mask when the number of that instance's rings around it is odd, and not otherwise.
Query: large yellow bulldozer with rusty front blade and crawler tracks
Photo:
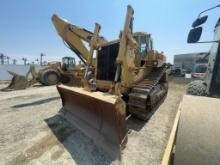
[[[133,14],[129,5],[124,28],[113,41],[100,43],[101,26],[96,24],[81,88],[57,85],[63,104],[60,114],[112,156],[120,155],[126,145],[126,119],[130,115],[149,119],[168,91],[166,57],[153,49],[149,33],[133,32]],[[64,40],[77,42],[75,25],[56,15],[52,21],[60,25]],[[74,51],[80,54],[77,48]]]

